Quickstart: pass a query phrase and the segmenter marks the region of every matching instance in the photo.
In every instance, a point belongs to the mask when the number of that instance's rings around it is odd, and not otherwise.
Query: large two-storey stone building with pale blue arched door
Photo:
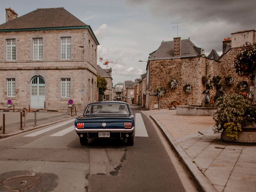
[[[18,17],[6,9],[0,25],[0,107],[77,108],[96,101],[97,46],[91,27],[64,8]]]

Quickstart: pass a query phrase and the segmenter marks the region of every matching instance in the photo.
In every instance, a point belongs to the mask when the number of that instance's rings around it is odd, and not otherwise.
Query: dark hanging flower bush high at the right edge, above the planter
[[[249,76],[253,80],[256,70],[256,42],[246,43],[242,47],[242,51],[234,60],[234,68],[238,75]]]

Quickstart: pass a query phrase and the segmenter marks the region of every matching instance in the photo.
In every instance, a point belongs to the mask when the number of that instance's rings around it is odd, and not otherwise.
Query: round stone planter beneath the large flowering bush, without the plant
[[[226,136],[226,132],[221,134],[221,138],[224,141],[256,144],[256,123],[252,122],[251,124],[244,126],[242,132],[239,133],[237,140],[232,140],[232,138]]]

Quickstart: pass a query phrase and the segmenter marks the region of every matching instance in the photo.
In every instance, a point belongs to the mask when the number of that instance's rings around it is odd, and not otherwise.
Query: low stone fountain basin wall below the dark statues
[[[213,115],[216,112],[216,108],[213,107],[201,107],[201,106],[189,106],[180,105],[176,106],[176,115]]]

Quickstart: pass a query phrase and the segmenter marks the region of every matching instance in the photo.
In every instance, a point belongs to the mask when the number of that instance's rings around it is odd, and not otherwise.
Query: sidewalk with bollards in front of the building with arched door
[[[77,111],[77,115],[82,114],[82,110]],[[3,134],[3,114],[5,114],[5,134]],[[26,115],[26,126],[24,127],[24,117],[22,117],[22,128],[24,130],[20,130],[20,111],[16,110],[13,112],[10,110],[9,112],[0,111],[0,138],[5,138],[8,136],[16,135],[21,132],[26,132],[29,130],[41,128],[44,126],[48,126],[57,122],[65,121],[68,119],[72,119],[75,116],[71,117],[70,111],[44,111],[40,110],[36,112],[36,126],[35,126],[35,112],[28,112]]]

